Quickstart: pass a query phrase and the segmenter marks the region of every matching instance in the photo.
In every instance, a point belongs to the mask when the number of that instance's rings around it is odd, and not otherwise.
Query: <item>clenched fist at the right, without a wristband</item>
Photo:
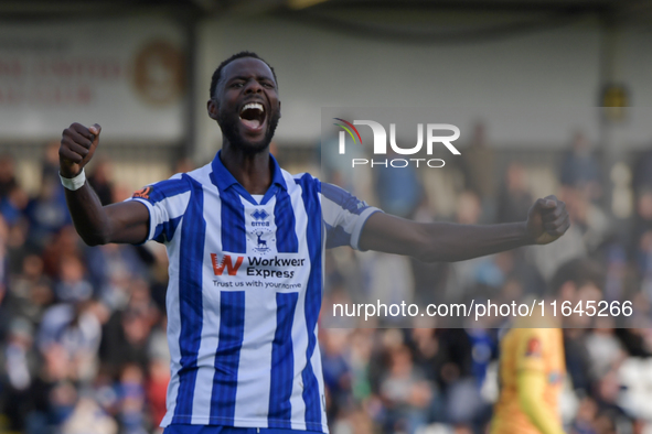
[[[537,199],[527,211],[527,237],[531,243],[547,245],[562,237],[570,219],[566,204],[555,196]]]

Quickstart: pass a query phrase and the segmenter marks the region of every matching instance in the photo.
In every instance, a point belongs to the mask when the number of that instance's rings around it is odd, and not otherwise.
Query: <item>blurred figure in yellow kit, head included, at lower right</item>
[[[566,300],[599,296],[599,273],[587,260],[574,260],[559,268],[552,287],[558,299],[557,306]],[[565,433],[558,410],[566,377],[562,322],[559,316],[552,316],[552,311],[546,317],[536,318],[535,324],[551,328],[512,328],[502,338],[501,391],[490,434]],[[532,324],[527,318],[515,326],[526,327],[528,321]]]

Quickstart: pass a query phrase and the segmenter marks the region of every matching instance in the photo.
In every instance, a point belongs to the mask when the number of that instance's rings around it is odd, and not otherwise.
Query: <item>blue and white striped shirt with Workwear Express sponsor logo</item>
[[[323,249],[357,241],[377,208],[276,160],[257,202],[224,167],[133,195],[170,259],[173,423],[328,432],[317,341]]]

